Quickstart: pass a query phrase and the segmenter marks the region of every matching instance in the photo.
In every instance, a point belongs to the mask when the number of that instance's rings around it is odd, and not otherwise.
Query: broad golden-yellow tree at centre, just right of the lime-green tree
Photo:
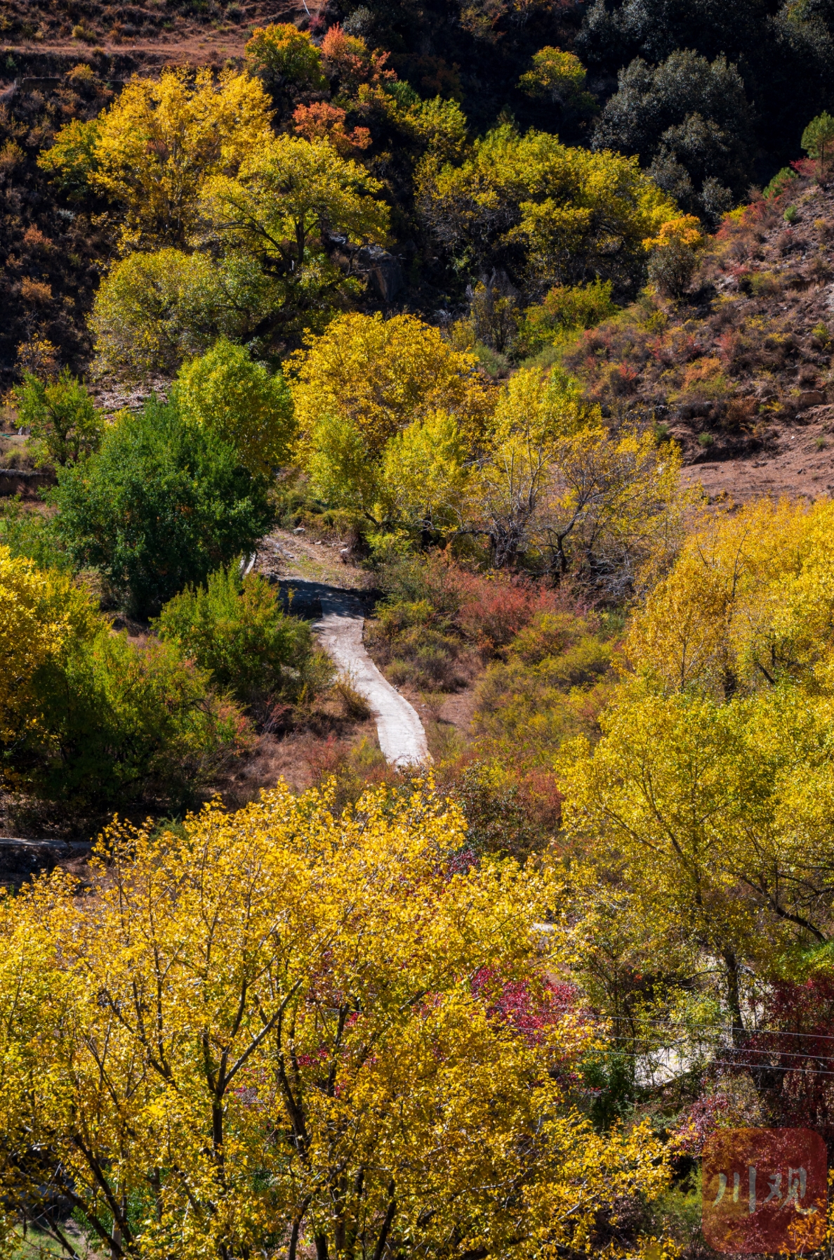
[[[414,315],[351,314],[289,362],[299,454],[318,493],[377,524],[426,512],[449,524],[492,410],[474,357]]]

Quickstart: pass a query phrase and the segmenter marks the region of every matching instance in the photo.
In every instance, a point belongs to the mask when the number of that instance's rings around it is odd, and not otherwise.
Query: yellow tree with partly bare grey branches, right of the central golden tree
[[[470,520],[496,563],[530,552],[556,578],[572,572],[621,597],[678,542],[679,464],[649,433],[609,436],[570,378],[522,369],[496,407]]]

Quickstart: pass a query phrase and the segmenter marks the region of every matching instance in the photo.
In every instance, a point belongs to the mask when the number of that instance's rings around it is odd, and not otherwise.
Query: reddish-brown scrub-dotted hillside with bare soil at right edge
[[[679,444],[711,500],[834,490],[834,192],[798,178],[709,238],[687,297],[645,295],[565,355],[604,413]]]

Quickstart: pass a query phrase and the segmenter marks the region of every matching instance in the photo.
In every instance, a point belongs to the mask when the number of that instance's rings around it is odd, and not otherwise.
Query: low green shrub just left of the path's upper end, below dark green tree
[[[294,698],[304,684],[313,650],[309,626],[284,615],[277,588],[259,573],[242,578],[239,564],[176,595],[156,625],[162,640],[242,701],[278,692]]]

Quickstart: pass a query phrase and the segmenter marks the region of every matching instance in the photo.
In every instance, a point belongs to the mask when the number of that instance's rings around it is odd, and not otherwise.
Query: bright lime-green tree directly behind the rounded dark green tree
[[[253,474],[286,462],[293,436],[293,403],[281,372],[253,363],[242,345],[221,338],[180,368],[174,397],[182,416],[205,425],[240,452]]]

